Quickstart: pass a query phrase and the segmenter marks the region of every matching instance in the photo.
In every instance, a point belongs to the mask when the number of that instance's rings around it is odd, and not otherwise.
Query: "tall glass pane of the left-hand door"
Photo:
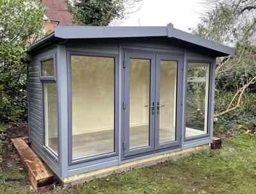
[[[150,60],[130,59],[130,149],[149,145],[149,87]]]

